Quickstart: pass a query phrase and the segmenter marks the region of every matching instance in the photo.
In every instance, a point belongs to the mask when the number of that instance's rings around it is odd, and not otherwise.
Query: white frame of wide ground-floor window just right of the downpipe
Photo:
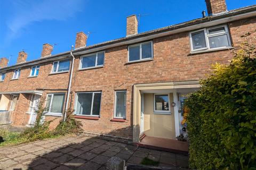
[[[92,105],[91,105],[91,112],[90,112],[90,115],[76,114],[76,107],[77,107],[78,94],[92,94]],[[102,91],[76,92],[75,105],[74,105],[74,111],[75,111],[75,112],[74,112],[74,115],[77,115],[77,116],[100,117],[100,113],[99,113],[99,115],[93,115],[93,114],[92,114],[94,94],[100,94],[100,110],[101,110]]]

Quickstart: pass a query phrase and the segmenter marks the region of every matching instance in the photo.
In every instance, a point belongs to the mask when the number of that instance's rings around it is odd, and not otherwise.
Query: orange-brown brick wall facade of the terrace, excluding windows
[[[232,46],[238,48],[243,41],[241,36],[256,28],[256,19],[233,21],[227,25]],[[74,108],[76,92],[102,91],[99,120],[79,118],[86,132],[131,139],[134,84],[199,80],[210,73],[209,69],[212,64],[227,64],[232,58],[229,49],[191,54],[189,32],[176,33],[151,41],[153,41],[154,60],[150,61],[127,63],[127,45],[106,49],[104,66],[100,68],[78,70],[81,56],[75,56],[69,99],[71,108]],[[76,47],[79,46],[76,45]],[[8,71],[4,82],[0,82],[0,92],[40,89],[44,91],[43,96],[52,92],[67,92],[70,72],[50,74],[52,62],[46,62],[41,64],[38,77],[29,78],[30,69],[30,66],[22,67],[18,80],[11,80],[13,71]],[[127,90],[126,120],[124,122],[111,121],[114,113],[115,90]],[[20,94],[13,112],[14,125],[27,124],[29,117],[26,112],[30,97],[31,95],[28,94]],[[46,120],[54,120],[51,125],[54,127],[59,123],[61,117],[46,116]]]

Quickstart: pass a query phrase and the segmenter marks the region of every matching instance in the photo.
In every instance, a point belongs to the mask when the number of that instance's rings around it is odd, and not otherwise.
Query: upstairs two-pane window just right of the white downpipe
[[[87,69],[104,65],[105,52],[98,52],[81,57],[80,69]]]

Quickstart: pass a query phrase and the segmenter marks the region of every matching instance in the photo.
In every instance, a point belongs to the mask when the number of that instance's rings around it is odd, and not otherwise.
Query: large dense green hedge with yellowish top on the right
[[[248,41],[241,47],[229,65],[216,64],[185,102],[193,168],[256,167],[256,51]]]

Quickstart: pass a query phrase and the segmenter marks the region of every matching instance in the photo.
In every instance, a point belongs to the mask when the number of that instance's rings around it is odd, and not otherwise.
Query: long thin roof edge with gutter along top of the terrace
[[[169,25],[167,27],[138,33],[137,35],[133,35],[133,36],[129,36],[129,37],[118,38],[118,39],[106,41],[106,42],[91,45],[91,46],[77,48],[77,49],[74,50],[73,53],[75,54],[75,53],[82,52],[82,51],[89,50],[89,49],[94,49],[94,48],[98,48],[98,47],[113,45],[113,44],[129,41],[129,40],[133,40],[133,39],[138,39],[138,38],[142,38],[142,37],[156,35],[156,34],[162,33],[162,32],[177,30],[177,29],[180,29],[180,28],[186,28],[186,27],[189,27],[191,25],[198,25],[198,24],[207,23],[207,22],[214,21],[214,20],[228,18],[230,16],[235,16],[235,15],[245,14],[245,13],[250,13],[250,12],[255,12],[255,11],[256,11],[256,5],[246,6],[246,7],[238,8],[236,10],[230,10],[230,11],[227,11],[227,12],[224,12],[224,13],[220,13],[220,14],[217,14],[217,15],[206,16],[205,18],[198,18],[198,19],[195,19],[195,20],[187,21],[187,22],[182,22],[182,23],[178,23],[178,24],[174,24],[174,25]],[[69,54],[70,54],[70,51],[64,52],[64,53],[59,53],[59,54],[52,55],[50,57],[39,58],[37,60],[28,61],[28,62],[25,62],[25,63],[19,63],[19,64],[15,64],[15,65],[8,66],[8,67],[3,67],[3,68],[0,68],[0,71],[1,70],[14,69],[14,67],[21,67],[22,65],[24,65],[24,66],[28,65],[28,64],[31,65],[31,64],[36,63],[36,62],[44,62],[44,61],[46,62],[46,61],[49,61],[49,60],[54,60],[54,58],[57,59],[61,56],[62,57],[63,56],[69,56]]]

